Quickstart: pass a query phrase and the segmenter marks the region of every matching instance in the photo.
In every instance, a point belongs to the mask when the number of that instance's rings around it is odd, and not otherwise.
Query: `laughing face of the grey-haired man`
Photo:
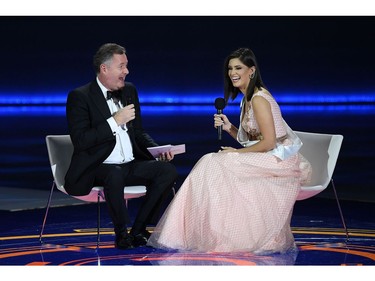
[[[112,60],[100,66],[100,80],[103,85],[112,91],[125,86],[125,77],[129,74],[128,58],[125,54],[113,55]]]

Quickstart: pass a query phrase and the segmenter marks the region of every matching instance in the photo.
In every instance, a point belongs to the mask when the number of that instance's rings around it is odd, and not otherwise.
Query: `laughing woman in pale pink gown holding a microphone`
[[[294,248],[290,228],[293,206],[311,166],[298,152],[302,145],[282,118],[263,85],[250,49],[225,61],[225,102],[238,93],[237,129],[215,114],[241,147],[222,147],[193,167],[148,240],[148,246],[199,252],[284,253]]]

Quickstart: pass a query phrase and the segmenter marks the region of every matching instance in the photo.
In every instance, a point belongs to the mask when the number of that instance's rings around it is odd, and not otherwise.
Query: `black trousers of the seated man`
[[[131,230],[133,234],[138,234],[155,217],[177,176],[176,167],[169,162],[133,160],[125,164],[102,164],[97,170],[95,185],[104,187],[115,233],[125,231],[130,223],[124,200],[126,185],[145,185],[147,188]]]

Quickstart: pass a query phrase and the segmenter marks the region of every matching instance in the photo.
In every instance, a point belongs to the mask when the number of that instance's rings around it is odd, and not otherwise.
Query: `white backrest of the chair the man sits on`
[[[55,184],[62,190],[73,154],[72,141],[69,135],[49,135],[46,137],[46,143]]]

